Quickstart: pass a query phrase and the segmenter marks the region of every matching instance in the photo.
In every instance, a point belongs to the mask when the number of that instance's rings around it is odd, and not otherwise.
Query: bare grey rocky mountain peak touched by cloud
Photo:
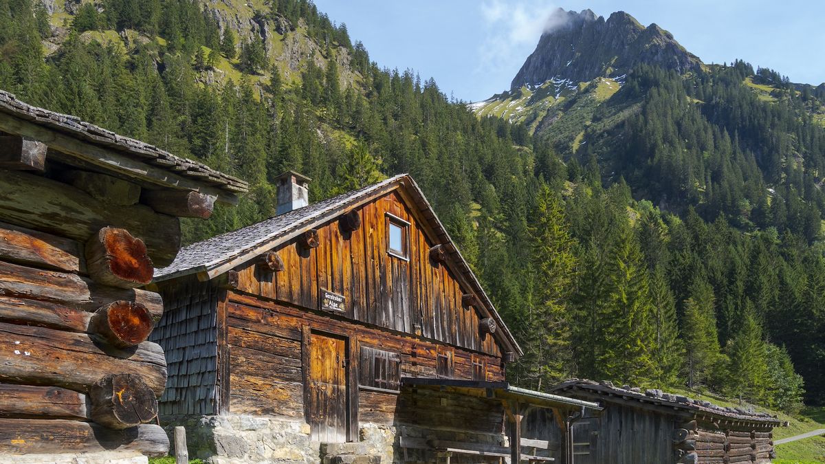
[[[701,65],[670,32],[656,24],[645,27],[627,12],[614,12],[605,21],[590,10],[559,8],[549,17],[539,45],[512,80],[511,89],[551,78],[578,83],[616,77],[641,63],[680,73]]]

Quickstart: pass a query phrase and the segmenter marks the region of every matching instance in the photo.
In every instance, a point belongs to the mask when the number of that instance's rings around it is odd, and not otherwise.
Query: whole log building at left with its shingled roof
[[[180,217],[246,183],[0,91],[0,462],[145,462],[163,350],[161,296]]]

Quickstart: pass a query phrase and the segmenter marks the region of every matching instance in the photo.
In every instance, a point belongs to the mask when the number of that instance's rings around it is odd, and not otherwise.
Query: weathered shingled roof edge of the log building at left
[[[229,202],[235,201],[235,195],[247,192],[248,188],[247,182],[219,173],[203,163],[180,158],[152,144],[115,134],[81,121],[77,116],[34,107],[3,90],[0,90],[0,130],[29,136],[48,144],[50,148],[80,158],[82,163],[141,178],[158,187],[205,190],[207,193],[214,192],[219,200]],[[77,140],[83,145],[79,146]]]

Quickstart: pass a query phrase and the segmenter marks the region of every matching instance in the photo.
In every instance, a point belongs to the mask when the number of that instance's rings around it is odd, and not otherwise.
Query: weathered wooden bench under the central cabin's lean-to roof
[[[486,443],[464,443],[464,442],[450,442],[447,440],[427,440],[426,438],[412,438],[401,436],[399,438],[401,448],[404,452],[404,462],[408,462],[408,449],[422,449],[434,452],[436,458],[443,458],[444,464],[450,464],[450,457],[454,454],[479,456],[479,457],[494,457],[498,462],[503,462],[505,458],[510,458],[510,448],[498,445],[491,445]],[[532,463],[539,462],[554,462],[554,457],[536,456],[535,452],[540,449],[550,449],[551,443],[546,440],[532,440],[530,438],[521,438],[522,448],[532,448],[531,453],[521,453],[521,461]],[[438,459],[436,459],[436,462]]]

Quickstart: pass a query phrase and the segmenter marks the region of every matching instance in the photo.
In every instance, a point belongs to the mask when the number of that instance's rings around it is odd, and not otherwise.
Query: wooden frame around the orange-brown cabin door
[[[358,340],[353,334],[344,334],[310,325],[301,327],[301,376],[304,381],[304,421],[309,424],[309,339],[313,334],[344,340],[347,359],[347,442],[358,441]]]

